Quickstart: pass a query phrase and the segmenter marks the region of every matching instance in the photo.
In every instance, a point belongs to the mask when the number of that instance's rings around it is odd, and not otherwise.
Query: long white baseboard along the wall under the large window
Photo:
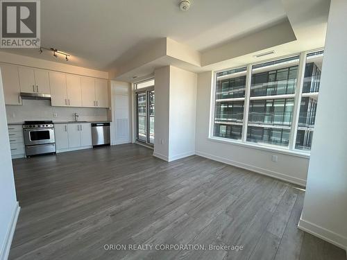
[[[306,180],[302,180],[302,179],[297,178],[297,177],[292,177],[292,176],[289,176],[289,175],[286,175],[286,174],[283,174],[283,173],[277,173],[276,171],[269,171],[269,170],[267,170],[265,168],[260,168],[260,167],[253,166],[253,165],[250,165],[250,164],[244,164],[242,162],[236,162],[236,161],[233,161],[231,159],[219,157],[219,156],[216,156],[216,155],[210,155],[208,153],[203,153],[203,152],[196,151],[195,154],[199,155],[201,157],[208,158],[208,159],[213,159],[214,161],[217,161],[217,162],[223,162],[224,164],[230,164],[232,166],[236,166],[236,167],[239,167],[239,168],[244,168],[244,169],[246,169],[248,171],[253,171],[255,173],[260,173],[262,175],[274,177],[276,179],[285,180],[286,182],[291,182],[293,184],[298,184],[298,185],[303,186],[303,187],[306,186]]]

